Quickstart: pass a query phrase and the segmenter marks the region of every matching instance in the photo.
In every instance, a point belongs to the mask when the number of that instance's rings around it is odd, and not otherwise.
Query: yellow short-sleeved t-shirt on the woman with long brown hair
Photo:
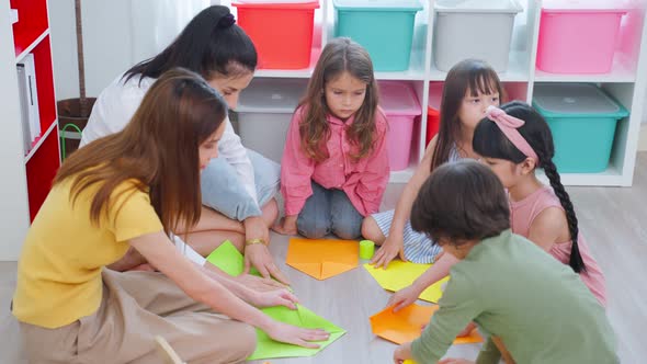
[[[71,180],[49,192],[18,264],[13,315],[49,329],[94,314],[101,304],[102,268],[126,253],[128,240],[163,229],[148,194],[130,181],[114,190],[112,196],[118,197],[111,198],[109,213],[93,225],[90,206],[99,185],[86,189],[72,206]]]

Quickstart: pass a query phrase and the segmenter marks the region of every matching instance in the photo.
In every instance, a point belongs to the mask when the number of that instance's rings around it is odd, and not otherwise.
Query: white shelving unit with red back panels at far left
[[[13,24],[10,8],[19,16]],[[25,150],[16,65],[29,54],[34,59],[41,136]],[[47,0],[0,1],[0,261],[14,261],[60,166]]]

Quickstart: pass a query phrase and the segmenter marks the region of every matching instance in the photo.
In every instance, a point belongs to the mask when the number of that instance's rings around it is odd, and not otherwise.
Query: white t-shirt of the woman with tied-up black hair
[[[156,81],[147,77],[139,83],[139,76],[135,76],[124,83],[122,77],[116,78],[97,99],[88,125],[81,135],[81,147],[94,139],[121,132]],[[234,167],[245,190],[258,203],[253,168],[247,157],[247,150],[240,143],[240,137],[234,132],[229,117],[225,120],[225,133],[218,143],[218,153]]]

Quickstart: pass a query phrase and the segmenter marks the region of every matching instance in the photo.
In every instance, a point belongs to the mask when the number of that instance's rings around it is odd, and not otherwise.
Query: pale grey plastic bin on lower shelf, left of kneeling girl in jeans
[[[281,163],[285,136],[307,80],[256,79],[240,94],[238,135],[242,145]]]

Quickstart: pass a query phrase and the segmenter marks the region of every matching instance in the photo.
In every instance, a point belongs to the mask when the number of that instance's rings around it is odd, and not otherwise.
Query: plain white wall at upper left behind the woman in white
[[[79,95],[73,0],[49,1],[57,100]],[[82,1],[86,92],[163,49],[209,0]]]

